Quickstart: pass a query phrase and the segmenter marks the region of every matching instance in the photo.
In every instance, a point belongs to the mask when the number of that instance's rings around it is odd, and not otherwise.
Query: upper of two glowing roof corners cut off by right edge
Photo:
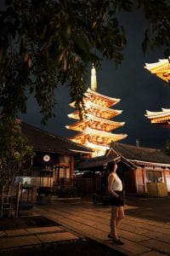
[[[145,68],[150,71],[150,73],[155,73],[160,79],[166,82],[170,81],[170,60],[161,59],[156,63],[145,63]]]

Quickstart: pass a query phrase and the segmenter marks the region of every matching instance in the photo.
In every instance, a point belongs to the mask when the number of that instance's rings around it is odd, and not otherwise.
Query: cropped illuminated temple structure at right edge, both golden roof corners
[[[155,73],[156,76],[167,83],[170,82],[170,57],[168,57],[168,59],[159,60],[156,63],[145,63],[145,68],[148,69],[150,73]],[[168,108],[161,108],[159,112],[146,110],[145,116],[150,119],[151,123],[170,128],[170,109]]]

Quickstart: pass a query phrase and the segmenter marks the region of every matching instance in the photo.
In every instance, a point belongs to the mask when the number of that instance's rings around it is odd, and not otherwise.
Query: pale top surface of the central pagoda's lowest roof
[[[71,137],[70,139],[77,138],[77,137],[84,137],[86,135],[90,135],[90,136],[96,135],[99,137],[105,137],[110,141],[110,143],[116,142],[118,140],[122,140],[123,138],[127,137],[127,134],[114,134],[111,132],[100,131],[100,130],[98,131],[98,130],[94,130],[92,128],[87,127],[84,131],[80,132],[76,136]]]

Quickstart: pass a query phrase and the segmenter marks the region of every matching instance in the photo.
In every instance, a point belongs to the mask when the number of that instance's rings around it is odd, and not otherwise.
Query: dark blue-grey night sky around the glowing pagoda
[[[170,87],[165,82],[151,74],[144,68],[145,62],[153,63],[163,59],[163,48],[149,50],[143,54],[141,43],[144,38],[146,21],[139,11],[122,15],[122,25],[127,33],[127,47],[124,50],[122,65],[116,68],[111,61],[103,61],[102,70],[96,70],[98,92],[105,96],[121,98],[114,108],[122,110],[115,121],[124,121],[126,124],[112,131],[113,133],[127,133],[128,137],[120,141],[135,145],[139,139],[140,146],[163,148],[170,137],[170,129],[161,125],[151,125],[144,117],[145,110],[161,111],[161,108],[170,108]],[[87,88],[90,87],[90,67]],[[56,90],[58,105],[54,109],[56,117],[48,121],[48,125],[41,125],[41,115],[38,113],[36,102],[30,98],[27,114],[22,120],[35,125],[45,131],[50,131],[60,137],[71,137],[73,131],[66,130],[65,125],[75,122],[67,117],[73,112],[70,108],[68,88]]]

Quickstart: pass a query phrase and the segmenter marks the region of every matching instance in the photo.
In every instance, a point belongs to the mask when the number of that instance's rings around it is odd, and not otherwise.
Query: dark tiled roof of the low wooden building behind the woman
[[[138,165],[170,168],[170,156],[164,154],[161,149],[136,147],[123,143],[114,143],[111,149],[114,154],[83,159],[78,163],[77,169],[85,170],[92,167],[105,166],[111,160],[116,160],[117,157],[121,157],[121,160],[133,169],[136,169]]]

